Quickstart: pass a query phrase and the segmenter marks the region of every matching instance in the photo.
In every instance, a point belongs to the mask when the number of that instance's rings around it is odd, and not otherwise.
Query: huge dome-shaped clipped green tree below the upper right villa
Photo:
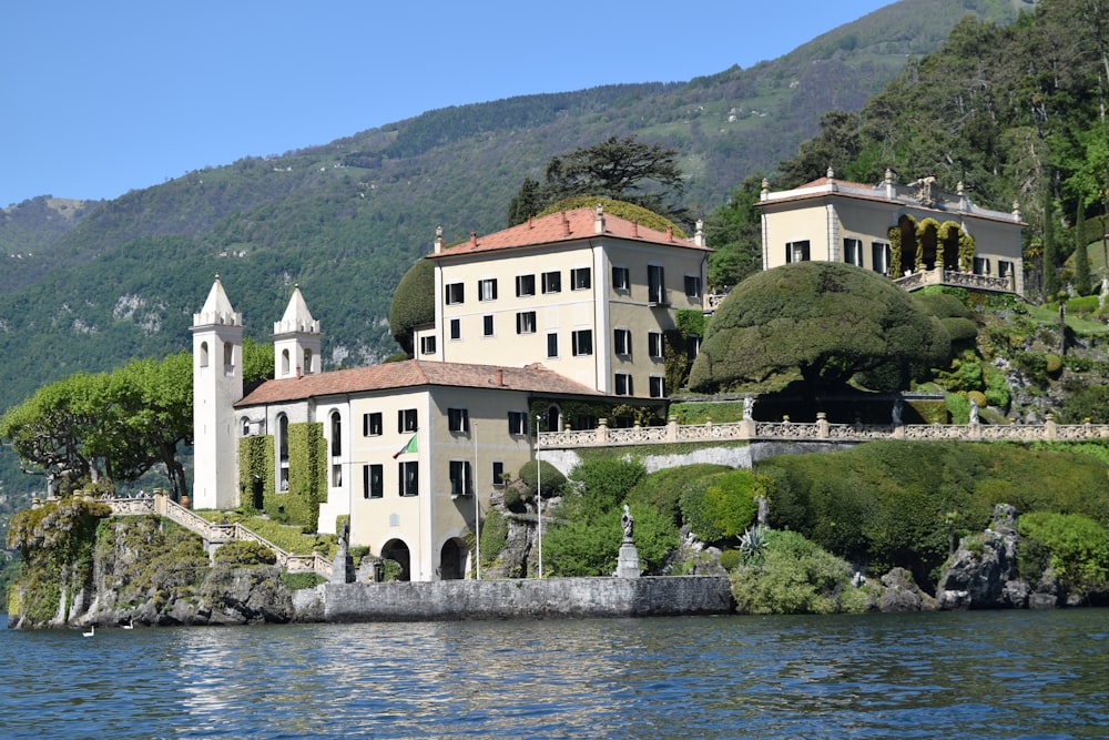
[[[705,332],[690,388],[777,391],[800,374],[811,393],[853,378],[898,391],[949,354],[939,321],[889,280],[848,264],[801,262],[752,275],[728,295]]]

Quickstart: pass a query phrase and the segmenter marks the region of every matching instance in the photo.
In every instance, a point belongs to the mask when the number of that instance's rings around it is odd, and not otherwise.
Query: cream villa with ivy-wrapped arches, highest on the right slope
[[[763,181],[763,270],[790,262],[847,262],[898,281],[1024,293],[1020,212],[970,202],[962,183],[940,192],[934,178],[908,185],[893,172],[877,185],[827,176],[771,192]]]

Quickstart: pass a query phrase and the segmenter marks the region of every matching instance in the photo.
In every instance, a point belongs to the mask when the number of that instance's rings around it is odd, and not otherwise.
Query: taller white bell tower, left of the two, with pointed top
[[[243,316],[220,275],[193,314],[193,506],[238,505],[238,437],[233,404],[243,397]]]

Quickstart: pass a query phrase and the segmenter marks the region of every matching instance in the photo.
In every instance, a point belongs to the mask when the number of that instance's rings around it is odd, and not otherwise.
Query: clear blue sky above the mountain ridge
[[[116,197],[447,105],[746,68],[891,3],[17,0],[0,207]]]

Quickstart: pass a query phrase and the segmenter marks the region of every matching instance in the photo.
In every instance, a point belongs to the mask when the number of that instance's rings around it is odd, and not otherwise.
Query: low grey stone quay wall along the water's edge
[[[323,620],[329,622],[665,617],[734,610],[723,576],[324,584],[317,589],[323,590]]]

